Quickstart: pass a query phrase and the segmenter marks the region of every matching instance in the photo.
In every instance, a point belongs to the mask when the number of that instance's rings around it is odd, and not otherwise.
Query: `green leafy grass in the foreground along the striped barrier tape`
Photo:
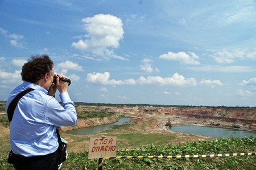
[[[126,136],[129,138],[129,136]],[[142,137],[141,135],[137,136]],[[214,141],[188,142],[184,145],[147,145],[130,150],[118,150],[117,156],[196,155],[255,152],[256,138],[220,138]],[[103,169],[256,169],[256,155],[220,158],[142,158],[104,159]],[[1,156],[0,169],[14,169]],[[88,160],[88,152],[69,153],[62,169],[95,169],[98,159]]]

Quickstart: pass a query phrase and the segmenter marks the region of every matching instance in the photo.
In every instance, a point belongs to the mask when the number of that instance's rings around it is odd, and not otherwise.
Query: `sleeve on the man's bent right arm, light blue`
[[[68,93],[60,94],[62,105],[52,96],[48,97],[46,105],[46,121],[55,126],[73,126],[77,124],[75,104]]]

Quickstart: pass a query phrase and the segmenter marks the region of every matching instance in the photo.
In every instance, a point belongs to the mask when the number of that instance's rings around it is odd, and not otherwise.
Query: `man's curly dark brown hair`
[[[53,61],[47,55],[32,56],[22,67],[22,80],[35,83],[46,73],[50,73],[53,68]]]

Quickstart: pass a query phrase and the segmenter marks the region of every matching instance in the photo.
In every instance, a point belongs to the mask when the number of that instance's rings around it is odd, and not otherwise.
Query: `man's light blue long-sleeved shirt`
[[[60,94],[60,105],[43,87],[23,82],[10,93],[6,113],[14,97],[27,88],[35,90],[24,95],[15,108],[10,124],[11,150],[23,156],[51,154],[59,146],[56,126],[77,124],[75,105],[68,93]]]

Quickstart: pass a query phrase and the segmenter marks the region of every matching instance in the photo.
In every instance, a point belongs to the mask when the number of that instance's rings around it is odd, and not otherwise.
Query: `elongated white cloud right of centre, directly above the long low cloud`
[[[181,63],[189,64],[189,65],[200,65],[200,62],[197,61],[199,57],[192,52],[189,52],[188,54],[185,52],[178,52],[178,53],[168,52],[167,54],[162,54],[159,57],[162,59],[168,59],[172,61],[180,61]]]

